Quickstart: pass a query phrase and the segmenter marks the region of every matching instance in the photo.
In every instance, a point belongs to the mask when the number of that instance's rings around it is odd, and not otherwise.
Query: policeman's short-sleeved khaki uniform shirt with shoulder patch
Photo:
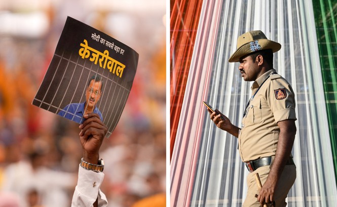
[[[290,84],[281,75],[272,73],[276,70],[258,77],[251,87],[254,94],[262,84],[242,119],[239,152],[244,162],[275,155],[280,133],[277,122],[296,120],[295,98]]]

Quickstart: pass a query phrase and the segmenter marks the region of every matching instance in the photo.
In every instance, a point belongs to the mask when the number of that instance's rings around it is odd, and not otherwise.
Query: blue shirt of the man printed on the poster
[[[67,119],[82,123],[84,118],[85,103],[71,103],[65,106],[62,110],[58,112],[58,115],[63,116]],[[101,121],[103,121],[102,113],[95,106],[93,113],[97,113]]]

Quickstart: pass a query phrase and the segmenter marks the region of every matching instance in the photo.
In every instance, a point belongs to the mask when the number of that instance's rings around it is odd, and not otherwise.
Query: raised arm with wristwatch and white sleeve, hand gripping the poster
[[[83,160],[87,163],[81,162],[78,185],[74,192],[72,206],[97,207],[98,201],[101,206],[107,206],[106,197],[100,191],[100,185],[104,178],[104,174],[101,173],[103,168],[102,166],[95,166],[103,164],[102,162],[99,163],[99,148],[107,133],[107,127],[96,113],[85,114],[83,117],[85,120],[79,126],[81,129],[79,136],[83,148]],[[82,163],[85,163],[83,168]],[[81,204],[78,204],[79,202]]]

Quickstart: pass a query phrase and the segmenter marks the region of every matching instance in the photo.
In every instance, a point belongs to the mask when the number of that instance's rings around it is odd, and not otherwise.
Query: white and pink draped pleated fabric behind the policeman
[[[315,5],[314,5],[315,6]],[[311,1],[204,0],[171,159],[171,206],[241,206],[247,169],[237,139],[217,129],[202,101],[241,125],[251,96],[238,63],[237,37],[262,30],[282,45],[274,68],[292,85],[297,178],[287,206],[335,206],[337,189]]]

